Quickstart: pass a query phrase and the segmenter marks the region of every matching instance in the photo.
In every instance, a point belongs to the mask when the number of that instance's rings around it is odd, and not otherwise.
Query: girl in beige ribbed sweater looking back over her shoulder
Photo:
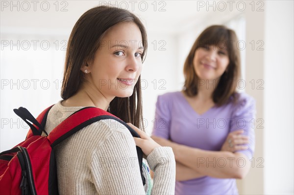
[[[97,107],[127,122],[141,138],[133,138],[114,119],[102,119],[57,145],[59,194],[174,193],[172,149],[161,147],[137,128],[142,127],[138,121],[143,121],[140,75],[146,50],[145,27],[127,10],[99,6],[75,23],[66,54],[63,100],[50,109],[45,130],[50,133],[81,108]],[[136,145],[155,172],[152,189],[148,178],[143,185]]]

